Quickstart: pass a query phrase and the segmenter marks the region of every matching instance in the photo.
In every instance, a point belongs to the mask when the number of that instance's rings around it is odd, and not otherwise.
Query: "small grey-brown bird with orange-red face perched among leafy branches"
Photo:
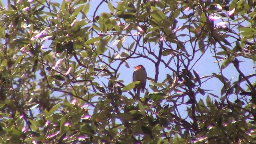
[[[138,66],[135,66],[134,68],[135,68],[135,70],[132,74],[132,81],[133,82],[140,81],[140,83],[136,84],[133,91],[134,92],[137,91],[138,96],[139,96],[140,91],[144,93],[146,81],[147,81],[147,72],[146,72],[146,69],[144,68],[144,66],[142,66],[141,64]]]

